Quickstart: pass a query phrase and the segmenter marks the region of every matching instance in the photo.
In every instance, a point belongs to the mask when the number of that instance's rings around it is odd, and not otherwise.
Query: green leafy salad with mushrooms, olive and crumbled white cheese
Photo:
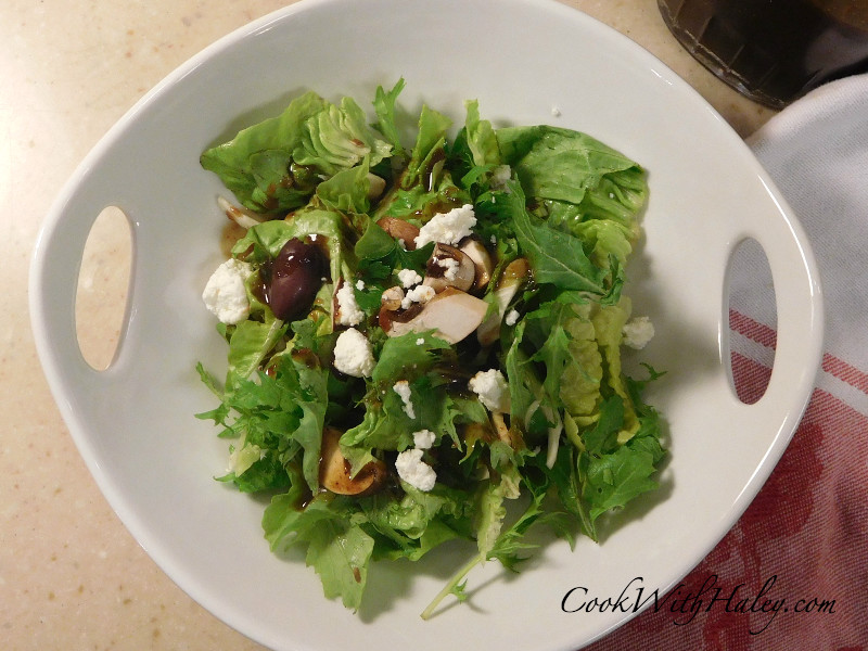
[[[308,92],[202,154],[238,233],[203,293],[228,370],[197,366],[219,403],[197,417],[231,439],[219,481],[270,499],[272,550],[304,546],[349,609],[372,561],[465,539],[427,617],[474,566],[516,570],[532,527],[596,540],[665,452],[659,373],[622,370],[653,333],[622,293],[643,169],[476,101],[455,129],[423,106],[405,142],[404,84],[373,124]]]

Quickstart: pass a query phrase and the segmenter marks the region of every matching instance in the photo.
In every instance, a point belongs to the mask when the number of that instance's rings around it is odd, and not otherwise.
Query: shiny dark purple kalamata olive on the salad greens
[[[271,264],[268,304],[284,321],[298,319],[310,310],[322,286],[327,263],[316,245],[293,238],[283,245]]]

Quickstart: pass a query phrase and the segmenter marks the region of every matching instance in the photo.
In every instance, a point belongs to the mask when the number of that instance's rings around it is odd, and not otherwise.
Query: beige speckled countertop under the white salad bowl
[[[363,0],[359,0],[363,1]],[[39,369],[27,309],[30,253],[59,188],[141,95],[281,0],[3,0],[0,3],[0,648],[259,649],[179,590],[108,508]],[[773,112],[705,72],[655,0],[570,0],[651,50],[746,136]],[[108,227],[82,269],[82,347],[111,356],[125,281]],[[114,279],[106,283],[105,279]],[[81,296],[81,295],[80,295]],[[106,326],[105,323],[110,323]]]

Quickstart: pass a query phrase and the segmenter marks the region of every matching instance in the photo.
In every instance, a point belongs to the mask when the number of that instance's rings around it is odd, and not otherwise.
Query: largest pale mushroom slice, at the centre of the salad
[[[410,311],[416,314],[407,320],[398,320],[403,315],[393,315],[393,318],[385,320],[383,329],[388,336],[435,330],[436,336],[456,344],[480,327],[488,311],[488,304],[461,290],[446,288],[424,305],[407,310]],[[383,322],[381,311],[381,326]]]

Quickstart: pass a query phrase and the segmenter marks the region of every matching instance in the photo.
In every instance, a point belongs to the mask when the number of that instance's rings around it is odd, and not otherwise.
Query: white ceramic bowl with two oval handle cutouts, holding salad
[[[263,503],[212,478],[226,442],[192,416],[213,407],[195,361],[219,368],[225,353],[200,299],[224,225],[200,153],[302,90],[363,102],[399,76],[410,112],[424,101],[460,124],[463,100],[476,98],[496,125],[579,129],[650,170],[628,292],[656,326],[643,358],[668,372],[651,396],[668,424],[663,489],[622,512],[600,546],[546,545],[518,576],[488,563],[471,575],[470,603],[429,622],[419,612],[471,550],[375,565],[368,602],[352,614],[323,598],[301,553],[271,554]],[[69,270],[107,205],[130,220],[135,261],[118,355],[97,372],[76,343]],[[769,259],[779,322],[771,380],[752,406],[732,391],[727,347],[727,263],[744,238]],[[566,591],[616,597],[642,577],[646,595],[662,593],[699,562],[780,458],[821,344],[802,229],[743,142],[656,59],[545,0],[305,0],[220,40],[143,98],[65,187],[36,248],[31,311],[60,409],[124,523],[205,608],[296,650],[554,650],[605,634],[634,613],[565,614]]]

